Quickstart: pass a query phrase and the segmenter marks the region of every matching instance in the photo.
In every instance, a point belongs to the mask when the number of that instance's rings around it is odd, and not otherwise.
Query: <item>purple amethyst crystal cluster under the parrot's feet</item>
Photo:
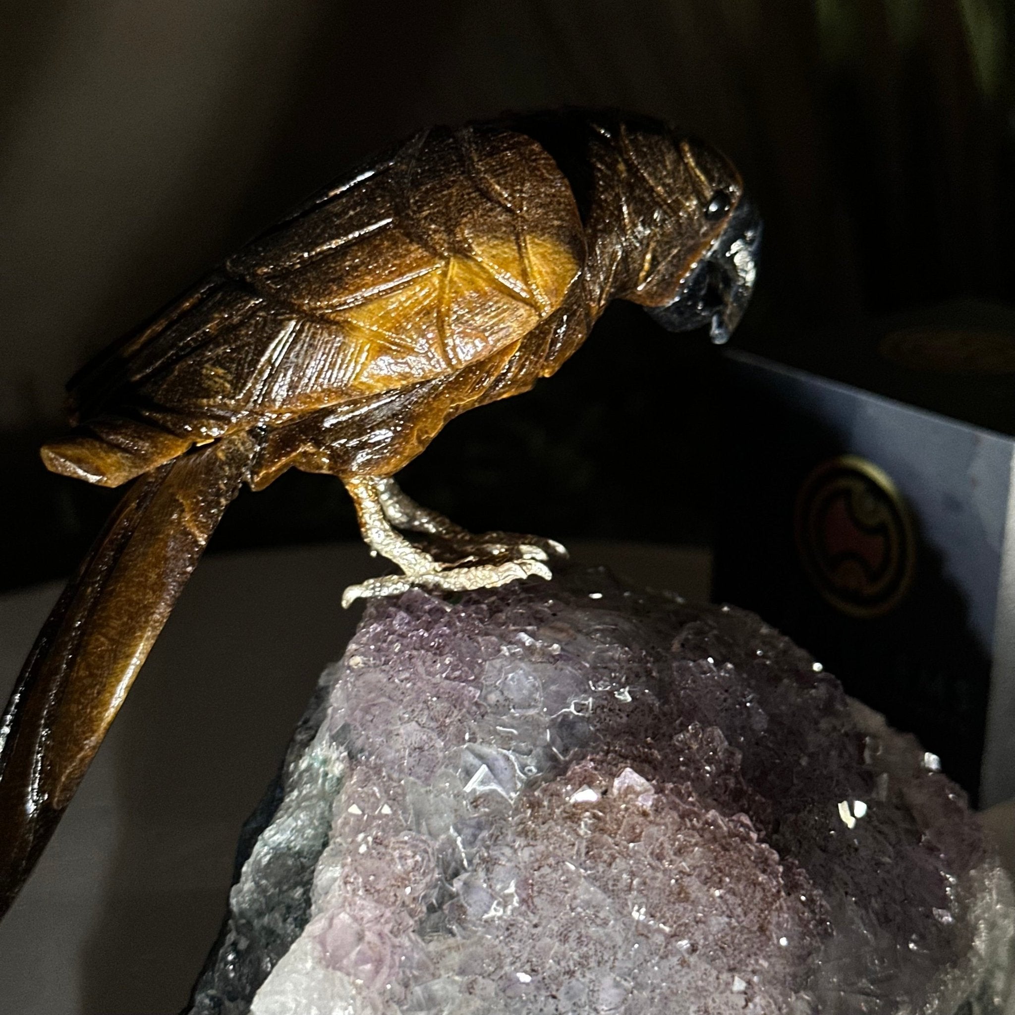
[[[374,602],[191,1010],[1007,1012],[1010,885],[938,768],[741,610]]]

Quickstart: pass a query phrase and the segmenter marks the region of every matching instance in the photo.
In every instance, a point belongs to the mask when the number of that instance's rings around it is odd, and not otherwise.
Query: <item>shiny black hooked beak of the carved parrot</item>
[[[684,278],[676,299],[646,311],[667,331],[708,325],[714,342],[729,341],[754,289],[760,246],[761,217],[741,198],[726,228]]]

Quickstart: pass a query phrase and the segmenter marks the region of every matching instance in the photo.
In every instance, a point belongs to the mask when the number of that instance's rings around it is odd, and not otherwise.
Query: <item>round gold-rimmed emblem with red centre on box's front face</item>
[[[916,539],[884,470],[855,455],[819,465],[797,496],[797,549],[824,599],[852,617],[879,617],[909,591]]]

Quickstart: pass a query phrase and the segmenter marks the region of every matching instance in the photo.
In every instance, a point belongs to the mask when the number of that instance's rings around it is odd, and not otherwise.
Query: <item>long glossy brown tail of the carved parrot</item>
[[[28,655],[0,721],[0,917],[31,873],[226,505],[239,434],[127,491]]]

